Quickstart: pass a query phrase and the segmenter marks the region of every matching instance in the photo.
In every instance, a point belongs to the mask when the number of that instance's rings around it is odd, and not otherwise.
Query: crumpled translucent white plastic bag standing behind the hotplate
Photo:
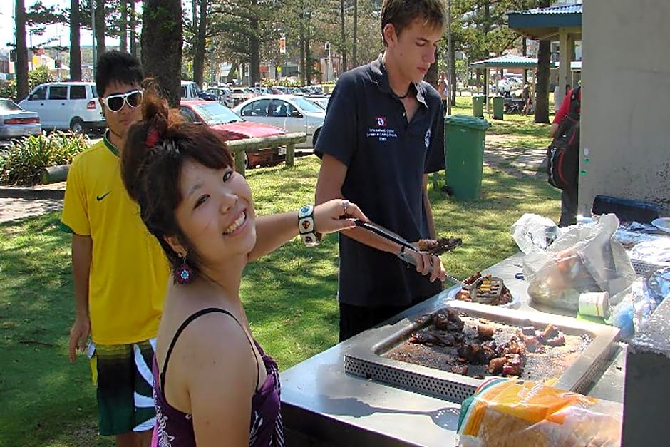
[[[617,227],[617,216],[602,215],[562,229],[546,250],[535,246],[527,252],[523,274],[532,301],[577,312],[583,292],[613,296],[629,287],[636,275],[624,247],[612,237]]]

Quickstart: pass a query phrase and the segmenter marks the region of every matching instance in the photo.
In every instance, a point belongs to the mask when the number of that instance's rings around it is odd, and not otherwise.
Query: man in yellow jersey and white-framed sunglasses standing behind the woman
[[[61,222],[72,233],[76,316],[70,360],[88,336],[97,384],[100,434],[118,446],[149,446],[155,421],[151,365],[170,272],[158,242],[125,192],[119,152],[140,118],[139,61],[108,51],[96,66],[96,91],[108,130],[68,173]]]

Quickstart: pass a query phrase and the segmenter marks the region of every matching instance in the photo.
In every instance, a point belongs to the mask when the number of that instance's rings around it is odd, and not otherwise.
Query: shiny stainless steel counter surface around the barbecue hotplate
[[[522,254],[495,264],[485,273],[503,278],[512,295],[520,298],[520,309],[530,306],[527,283],[515,279],[521,272]],[[450,289],[389,319],[394,324],[419,313],[443,307]],[[370,332],[379,331],[374,328]],[[344,354],[355,346],[359,334],[327,351],[287,369],[281,374],[282,413],[287,446],[455,446],[460,405],[413,391],[394,388],[344,372]],[[589,395],[623,401],[626,346]]]

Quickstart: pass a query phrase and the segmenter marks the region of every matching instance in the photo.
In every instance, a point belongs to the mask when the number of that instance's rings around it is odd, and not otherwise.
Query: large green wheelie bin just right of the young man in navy
[[[452,115],[445,122],[446,185],[456,200],[475,200],[482,192],[484,138],[490,123],[483,118]]]

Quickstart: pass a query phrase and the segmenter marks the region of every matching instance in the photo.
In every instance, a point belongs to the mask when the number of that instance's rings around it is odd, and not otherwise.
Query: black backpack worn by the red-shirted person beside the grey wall
[[[570,113],[561,121],[554,140],[547,148],[547,181],[560,190],[577,186],[580,88],[574,88],[570,93]]]

